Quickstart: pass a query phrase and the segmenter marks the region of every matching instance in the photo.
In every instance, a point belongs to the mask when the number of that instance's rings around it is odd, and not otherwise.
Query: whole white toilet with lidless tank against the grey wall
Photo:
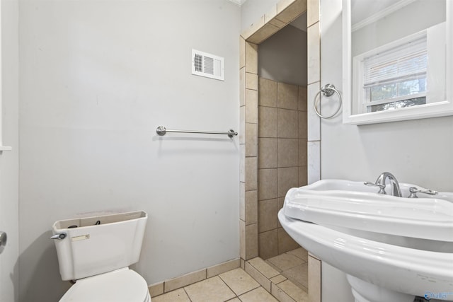
[[[129,268],[139,261],[148,215],[144,211],[56,221],[62,280],[75,283],[60,302],[151,302],[147,281]]]

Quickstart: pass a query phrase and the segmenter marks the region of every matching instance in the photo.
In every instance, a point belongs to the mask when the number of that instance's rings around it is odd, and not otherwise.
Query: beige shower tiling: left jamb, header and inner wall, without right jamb
[[[243,260],[267,259],[297,248],[278,223],[277,211],[289,187],[306,184],[307,91],[303,86],[258,79],[258,47],[306,11],[306,0],[279,1],[240,38]]]

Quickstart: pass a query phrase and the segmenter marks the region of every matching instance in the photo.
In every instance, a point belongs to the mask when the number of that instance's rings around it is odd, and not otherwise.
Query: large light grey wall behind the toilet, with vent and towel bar
[[[20,3],[21,301],[56,301],[59,219],[143,209],[148,284],[239,257],[240,7],[226,0]],[[192,76],[192,48],[225,81]]]

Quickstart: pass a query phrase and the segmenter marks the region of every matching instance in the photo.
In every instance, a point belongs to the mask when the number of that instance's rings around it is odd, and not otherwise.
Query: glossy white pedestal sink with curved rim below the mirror
[[[453,301],[453,193],[377,194],[363,182],[290,189],[278,219],[294,240],[347,274],[357,302]]]

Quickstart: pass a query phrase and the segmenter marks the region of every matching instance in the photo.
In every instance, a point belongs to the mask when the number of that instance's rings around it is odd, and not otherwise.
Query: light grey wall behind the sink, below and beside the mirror
[[[321,85],[342,85],[341,10],[340,1],[321,1]],[[452,154],[453,117],[365,126],[343,125],[341,115],[321,121],[323,179],[374,181],[389,171],[401,182],[452,191]],[[329,279],[323,270],[323,295],[329,286],[333,292],[345,290],[337,284],[344,282]]]

